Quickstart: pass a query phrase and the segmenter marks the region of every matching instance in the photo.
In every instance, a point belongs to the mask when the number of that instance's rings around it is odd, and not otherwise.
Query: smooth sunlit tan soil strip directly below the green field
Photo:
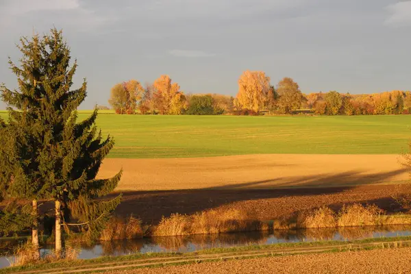
[[[408,179],[398,155],[296,154],[107,159],[99,177],[110,177],[121,168],[118,190],[356,186]]]

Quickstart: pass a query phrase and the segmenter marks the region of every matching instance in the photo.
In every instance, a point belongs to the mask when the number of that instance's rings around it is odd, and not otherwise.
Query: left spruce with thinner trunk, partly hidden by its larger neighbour
[[[21,69],[11,60],[10,68],[18,77],[18,89],[11,91],[0,86],[1,98],[8,103],[8,123],[1,121],[0,175],[3,195],[17,199],[32,200],[32,245],[39,247],[38,242],[38,199],[42,196],[42,176],[36,161],[41,147],[39,136],[42,129],[38,123],[38,99],[40,99],[41,60],[40,40],[21,38],[18,49],[23,53]],[[37,257],[40,258],[38,251]]]

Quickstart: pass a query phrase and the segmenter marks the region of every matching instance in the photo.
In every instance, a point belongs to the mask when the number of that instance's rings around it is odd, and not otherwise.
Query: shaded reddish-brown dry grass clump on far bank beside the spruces
[[[113,216],[101,232],[100,240],[123,240],[142,238],[144,229],[140,219],[133,216],[121,218]]]

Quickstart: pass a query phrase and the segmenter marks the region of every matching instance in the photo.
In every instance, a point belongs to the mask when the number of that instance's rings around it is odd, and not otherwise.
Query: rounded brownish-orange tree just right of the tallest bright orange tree
[[[290,77],[284,77],[277,86],[277,93],[279,95],[279,109],[285,113],[290,114],[292,110],[301,108],[303,95],[297,82]]]

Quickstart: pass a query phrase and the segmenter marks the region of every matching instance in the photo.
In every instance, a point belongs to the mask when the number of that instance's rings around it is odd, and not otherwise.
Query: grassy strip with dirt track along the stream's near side
[[[52,262],[49,264],[32,264],[27,266],[10,267],[1,269],[0,273],[19,272],[55,272],[64,271],[98,271],[98,268],[108,270],[112,267],[156,267],[165,264],[199,263],[214,260],[229,260],[240,258],[257,258],[266,256],[286,256],[299,253],[322,253],[336,251],[355,251],[362,249],[386,249],[408,247],[411,237],[371,238],[351,242],[323,241],[323,242],[298,242],[281,243],[274,245],[253,245],[233,248],[206,249],[192,253],[136,253],[129,256],[102,257],[92,260],[73,260]],[[100,270],[101,271],[101,270]]]

